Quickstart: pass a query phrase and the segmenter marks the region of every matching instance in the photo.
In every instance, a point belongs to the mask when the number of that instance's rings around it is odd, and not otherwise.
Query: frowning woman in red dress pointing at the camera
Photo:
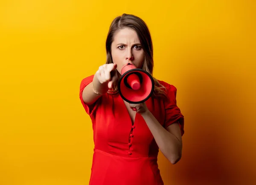
[[[113,20],[106,51],[106,64],[80,86],[81,103],[93,123],[90,185],[163,185],[159,149],[172,164],[182,152],[184,119],[176,88],[153,78],[154,93],[144,103],[129,104],[120,97],[117,81],[124,64],[153,72],[151,35],[139,17],[123,14]]]

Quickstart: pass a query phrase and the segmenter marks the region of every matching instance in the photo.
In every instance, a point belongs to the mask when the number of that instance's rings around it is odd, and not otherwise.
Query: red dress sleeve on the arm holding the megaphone
[[[165,128],[173,123],[178,123],[180,126],[181,136],[184,134],[184,116],[182,115],[180,108],[177,107],[176,101],[177,89],[173,85],[167,87],[168,100],[164,102],[165,105]]]

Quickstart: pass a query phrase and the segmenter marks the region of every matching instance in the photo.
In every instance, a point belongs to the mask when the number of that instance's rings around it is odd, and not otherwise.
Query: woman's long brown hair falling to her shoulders
[[[122,14],[121,16],[116,17],[109,28],[108,36],[106,40],[106,52],[107,52],[107,61],[106,64],[113,63],[111,56],[111,44],[113,42],[113,36],[116,31],[119,29],[131,28],[137,32],[138,38],[145,53],[144,62],[142,69],[153,74],[153,44],[151,40],[151,35],[148,30],[146,23],[140,18],[132,14]],[[120,75],[119,75],[120,77]],[[166,88],[160,84],[156,78],[154,78],[154,97],[166,97]],[[115,85],[113,91],[117,91],[117,86]]]

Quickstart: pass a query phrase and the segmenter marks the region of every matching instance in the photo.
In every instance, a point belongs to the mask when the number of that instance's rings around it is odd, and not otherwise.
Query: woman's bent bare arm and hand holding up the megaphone
[[[172,164],[176,164],[180,160],[182,153],[182,138],[179,124],[173,123],[165,129],[147,109],[145,103],[130,104],[130,107],[136,108],[137,113],[140,113],[143,117],[163,155]]]

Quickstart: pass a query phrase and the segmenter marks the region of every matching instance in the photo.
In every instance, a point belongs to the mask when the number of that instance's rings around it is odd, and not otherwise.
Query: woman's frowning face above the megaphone
[[[133,29],[120,29],[114,34],[111,44],[113,63],[121,74],[122,66],[131,63],[141,68],[144,61],[144,51],[137,33]]]

